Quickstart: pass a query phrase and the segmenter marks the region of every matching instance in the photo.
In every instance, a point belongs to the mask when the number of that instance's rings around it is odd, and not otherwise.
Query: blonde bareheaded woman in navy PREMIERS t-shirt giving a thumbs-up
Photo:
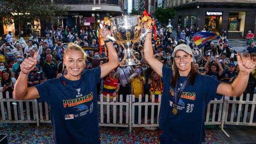
[[[109,62],[83,74],[86,55],[83,49],[70,43],[63,56],[68,74],[27,87],[28,74],[37,63],[37,52],[20,64],[21,72],[14,88],[16,100],[41,98],[50,105],[54,142],[59,144],[99,144],[97,83],[119,65],[111,35],[105,28],[101,35],[108,47]]]

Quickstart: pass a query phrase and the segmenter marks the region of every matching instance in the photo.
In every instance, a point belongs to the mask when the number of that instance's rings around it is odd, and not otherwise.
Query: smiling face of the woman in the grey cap
[[[179,50],[175,54],[175,64],[179,69],[180,76],[187,76],[189,71],[191,70],[191,62],[193,62],[193,57],[184,52],[183,50]]]

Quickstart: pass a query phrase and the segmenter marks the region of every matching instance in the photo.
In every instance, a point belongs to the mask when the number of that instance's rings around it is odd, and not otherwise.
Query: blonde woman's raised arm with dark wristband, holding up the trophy
[[[103,26],[102,30],[100,31],[100,35],[103,37],[104,41],[108,40],[109,38],[107,35],[111,35],[110,31]],[[104,63],[100,65],[101,73],[100,78],[104,78],[111,72],[111,70],[115,69],[119,65],[119,60],[117,56],[117,51],[115,50],[111,41],[106,42],[106,48],[108,48],[108,63]]]

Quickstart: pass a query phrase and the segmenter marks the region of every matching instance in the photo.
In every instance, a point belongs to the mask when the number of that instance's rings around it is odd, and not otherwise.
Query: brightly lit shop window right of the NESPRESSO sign
[[[228,17],[228,36],[243,37],[245,31],[245,11],[230,11]]]

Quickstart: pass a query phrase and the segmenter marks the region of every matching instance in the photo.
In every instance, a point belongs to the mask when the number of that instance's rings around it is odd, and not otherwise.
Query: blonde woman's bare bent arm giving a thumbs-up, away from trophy
[[[37,63],[37,55],[38,53],[36,52],[33,57],[24,59],[24,61],[20,64],[21,72],[17,82],[15,83],[13,92],[15,100],[30,100],[40,98],[39,92],[35,87],[28,88],[28,74],[34,69]]]

